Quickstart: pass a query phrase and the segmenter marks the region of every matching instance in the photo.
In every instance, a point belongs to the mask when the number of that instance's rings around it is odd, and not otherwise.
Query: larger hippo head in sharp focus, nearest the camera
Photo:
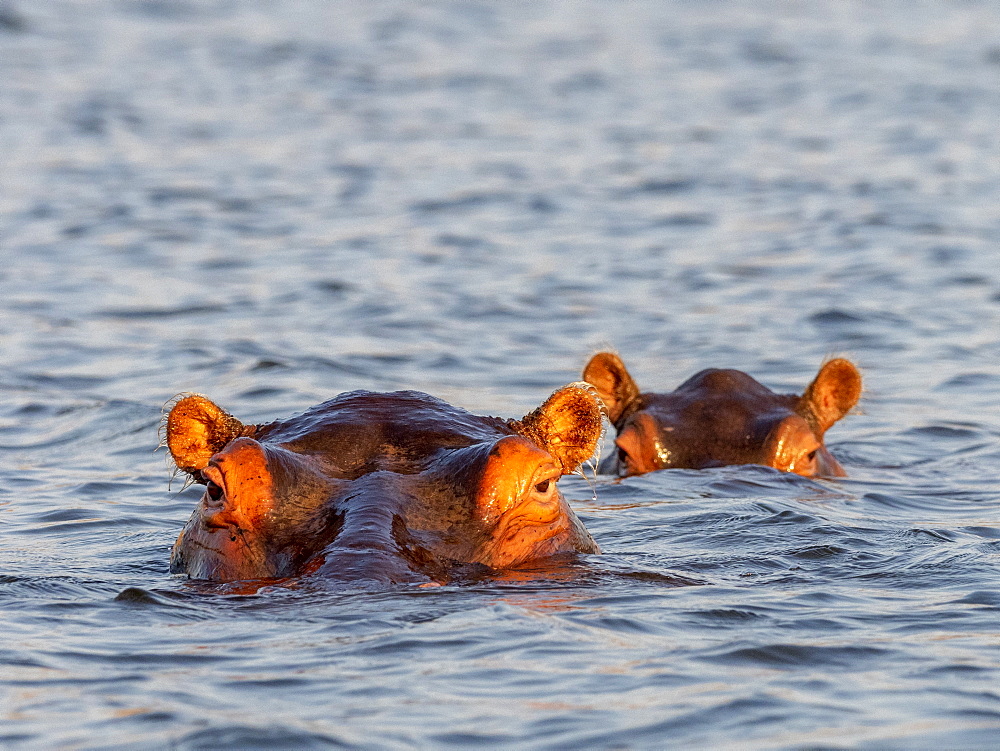
[[[432,583],[461,564],[598,553],[556,483],[594,455],[601,432],[584,383],[520,420],[416,391],[354,391],[245,425],[186,395],[165,419],[166,444],[205,492],[170,570],[215,582]]]

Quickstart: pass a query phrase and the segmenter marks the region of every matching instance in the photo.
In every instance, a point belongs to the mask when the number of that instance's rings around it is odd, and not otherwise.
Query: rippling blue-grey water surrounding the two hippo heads
[[[0,2],[0,745],[1000,744],[1000,8]],[[864,369],[850,473],[563,481],[605,550],[220,595],[160,408]],[[691,584],[697,582],[698,585]]]

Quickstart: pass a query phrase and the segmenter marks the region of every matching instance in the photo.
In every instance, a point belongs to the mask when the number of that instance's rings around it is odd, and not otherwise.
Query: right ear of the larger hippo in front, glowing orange
[[[601,438],[601,403],[587,383],[563,386],[511,427],[548,451],[568,475],[594,455]]]

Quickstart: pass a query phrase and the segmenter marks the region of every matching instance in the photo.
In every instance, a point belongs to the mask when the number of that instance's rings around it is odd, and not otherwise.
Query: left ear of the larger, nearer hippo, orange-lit
[[[208,466],[208,460],[241,435],[253,433],[211,400],[198,394],[180,399],[166,420],[167,448],[177,468],[189,473]]]

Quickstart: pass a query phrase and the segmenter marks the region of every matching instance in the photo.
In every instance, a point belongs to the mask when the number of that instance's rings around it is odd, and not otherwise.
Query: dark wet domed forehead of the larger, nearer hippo
[[[335,474],[421,471],[442,450],[492,443],[513,430],[417,391],[353,391],[259,426],[255,438],[318,458]]]

